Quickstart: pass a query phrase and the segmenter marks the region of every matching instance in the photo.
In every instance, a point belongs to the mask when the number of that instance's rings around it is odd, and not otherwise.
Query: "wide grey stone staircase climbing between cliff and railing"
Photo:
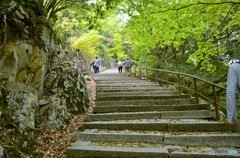
[[[240,133],[172,88],[100,73],[97,100],[67,157],[240,158]]]

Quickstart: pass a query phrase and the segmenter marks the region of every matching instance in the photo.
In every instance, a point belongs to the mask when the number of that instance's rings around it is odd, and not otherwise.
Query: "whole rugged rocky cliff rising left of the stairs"
[[[0,115],[21,129],[62,128],[88,107],[85,78],[51,28],[14,1],[0,3]],[[60,57],[61,54],[61,57]]]

